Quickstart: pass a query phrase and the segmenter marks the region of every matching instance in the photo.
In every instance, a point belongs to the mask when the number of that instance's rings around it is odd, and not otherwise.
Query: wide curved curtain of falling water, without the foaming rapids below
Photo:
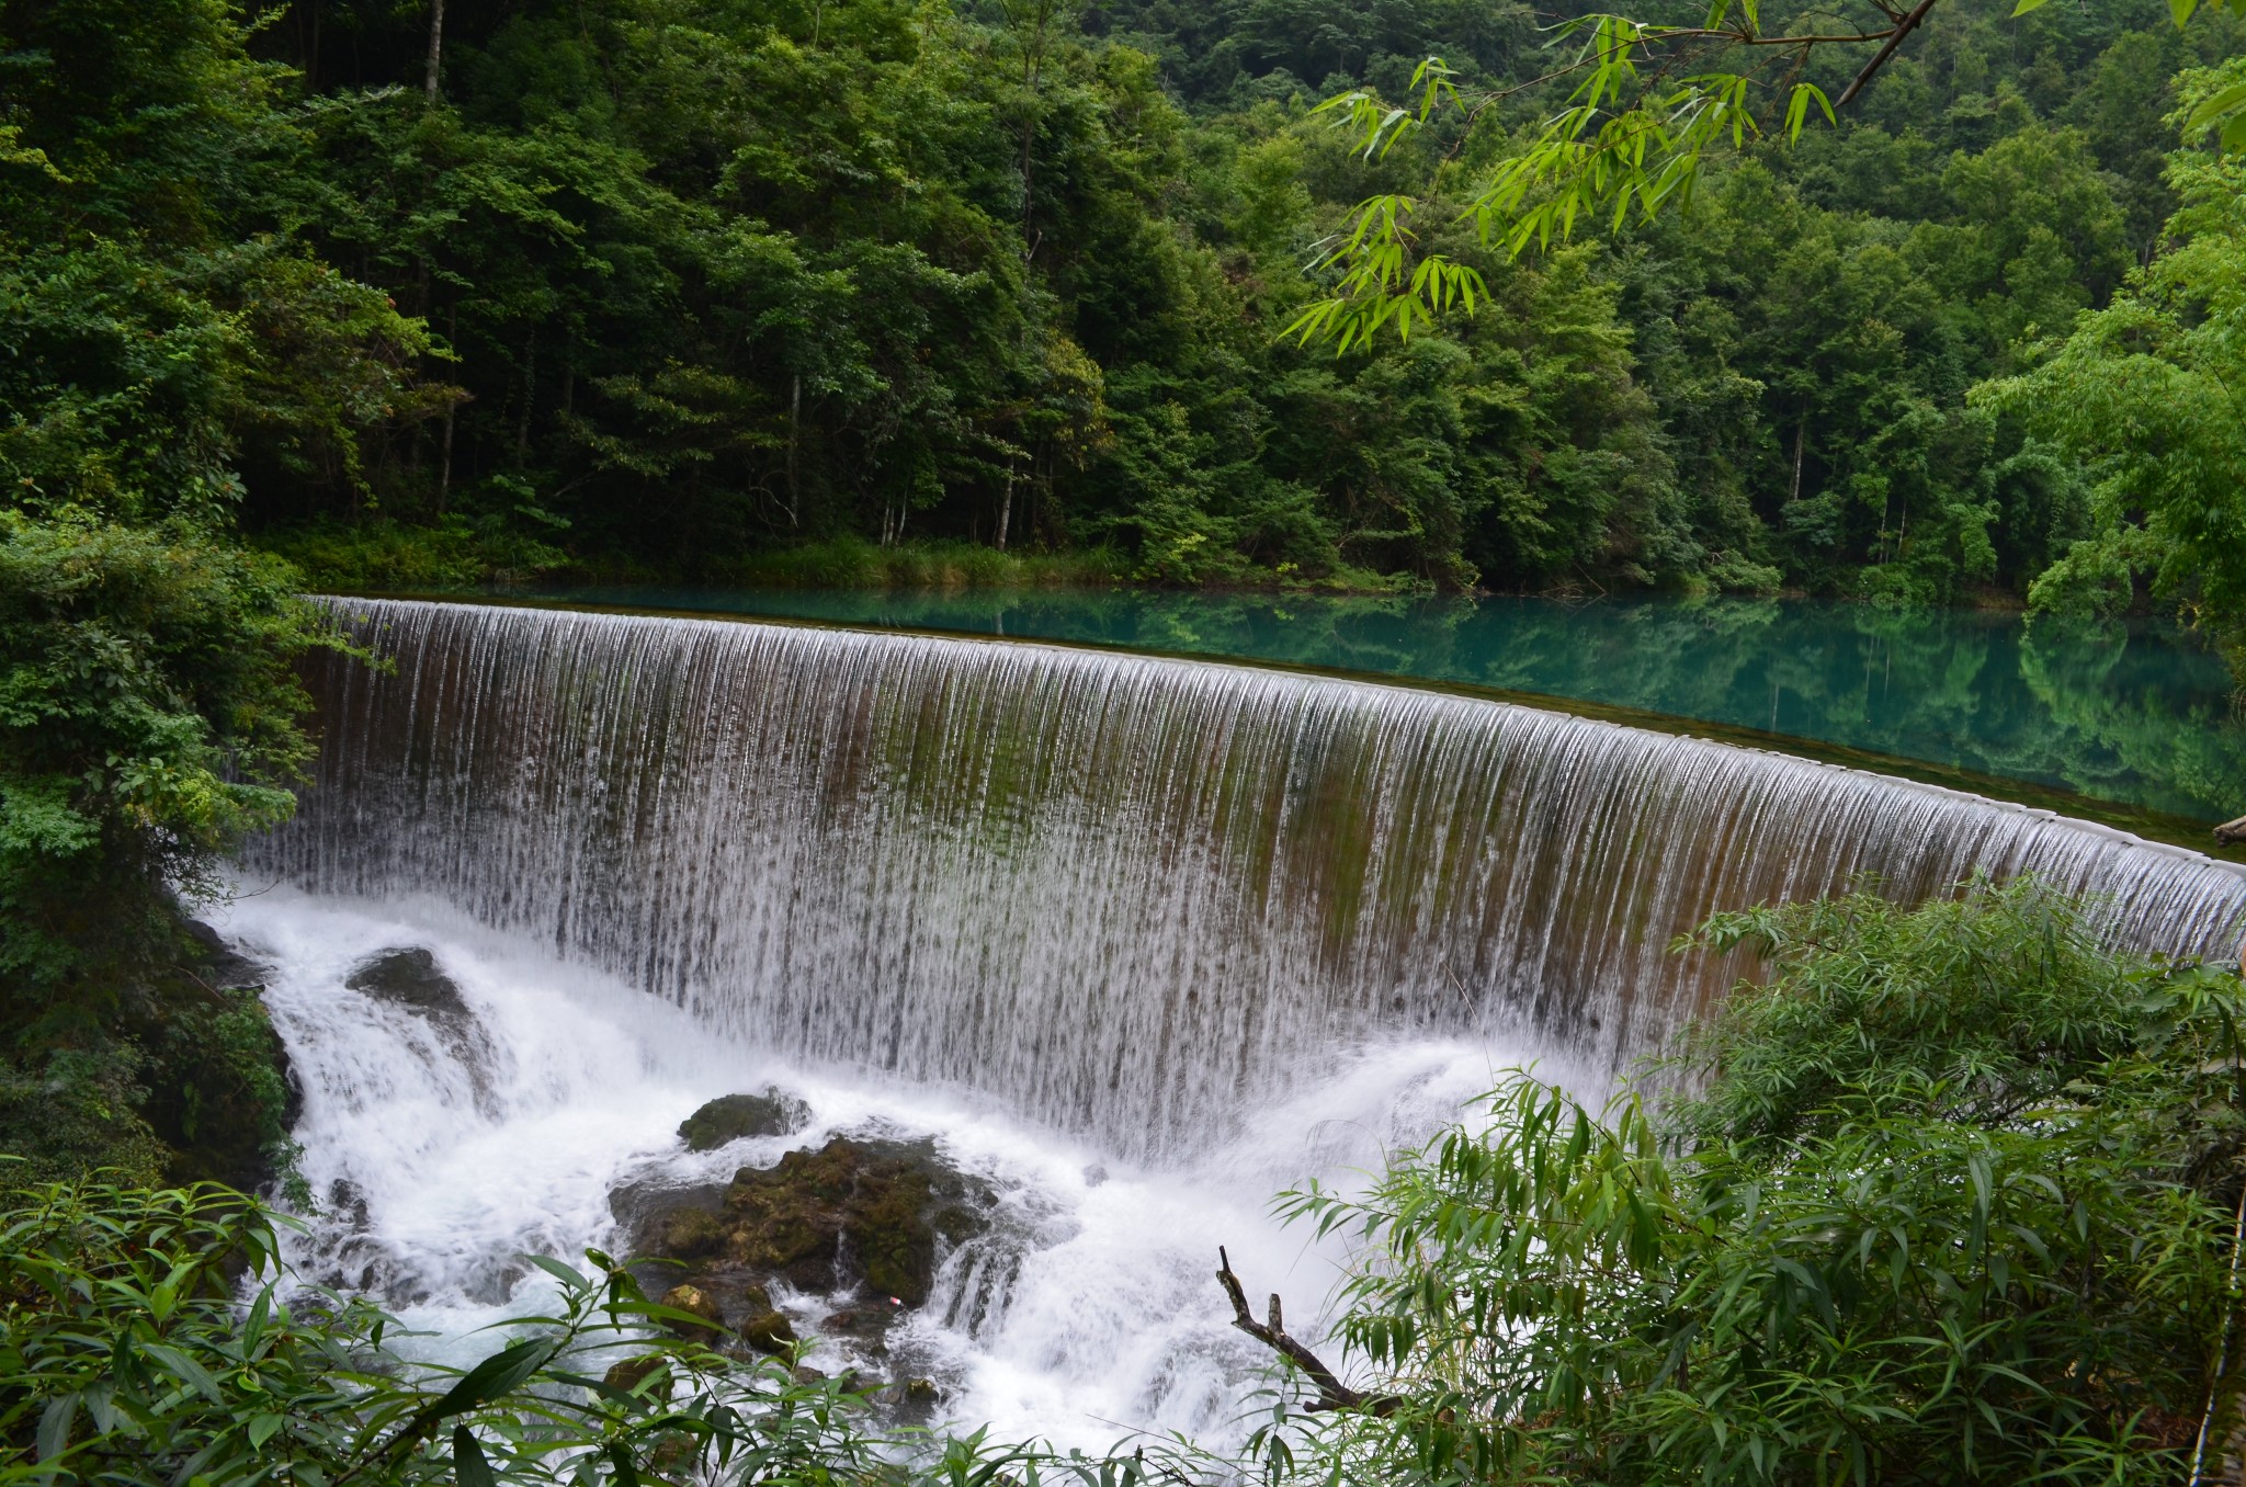
[[[2246,874],[1806,759],[1240,665],[791,624],[337,600],[326,750],[252,874],[433,896],[791,1058],[997,1096],[1125,1157],[1330,1051],[1588,1069],[1736,973],[1727,907],[1974,869],[2237,946]]]

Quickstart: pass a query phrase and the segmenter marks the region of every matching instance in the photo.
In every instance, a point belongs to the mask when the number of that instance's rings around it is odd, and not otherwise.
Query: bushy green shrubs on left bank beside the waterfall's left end
[[[182,901],[294,809],[328,642],[294,586],[184,521],[0,510],[0,1134],[40,1175],[247,1182],[227,1152],[283,1137],[279,1042]]]

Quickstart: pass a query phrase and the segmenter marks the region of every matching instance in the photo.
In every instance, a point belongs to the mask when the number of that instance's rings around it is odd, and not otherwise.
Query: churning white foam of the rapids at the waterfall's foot
[[[1139,1168],[1011,1119],[988,1098],[804,1067],[712,1038],[631,986],[492,934],[431,903],[341,903],[290,890],[245,896],[222,928],[270,973],[265,1000],[303,1092],[296,1137],[321,1199],[290,1240],[312,1280],[373,1292],[467,1363],[490,1328],[550,1298],[523,1253],[575,1260],[622,1242],[609,1193],[723,1179],[827,1132],[941,1134],[1006,1195],[1008,1222],[952,1253],[930,1305],[889,1339],[892,1377],[934,1377],[946,1413],[1002,1438],[1101,1449],[1123,1429],[1224,1440],[1269,1359],[1231,1332],[1217,1247],[1260,1289],[1285,1289],[1296,1328],[1332,1283],[1327,1258],[1282,1233],[1264,1199],[1307,1175],[1379,1161],[1491,1083],[1503,1049],[1413,1042],[1276,1101],[1217,1150]],[[436,952],[474,1018],[424,1018],[344,986],[368,955]],[[809,1098],[795,1137],[690,1155],[676,1125],[701,1101],[779,1083]],[[829,1305],[779,1294],[800,1332]],[[851,1361],[822,1343],[811,1361]]]

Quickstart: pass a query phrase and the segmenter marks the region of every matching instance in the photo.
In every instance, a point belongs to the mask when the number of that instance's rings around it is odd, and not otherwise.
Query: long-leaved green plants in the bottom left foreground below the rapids
[[[741,1359],[602,1253],[467,1366],[364,1298],[292,1285],[218,1186],[0,1195],[0,1483],[177,1487],[1143,1487],[1085,1458],[880,1426],[851,1379]]]

